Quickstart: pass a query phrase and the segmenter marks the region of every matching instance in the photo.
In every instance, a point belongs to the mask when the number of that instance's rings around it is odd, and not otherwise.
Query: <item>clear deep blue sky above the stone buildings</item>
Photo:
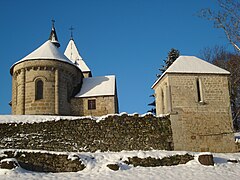
[[[64,52],[74,40],[93,76],[115,74],[120,112],[151,107],[151,85],[171,48],[200,56],[204,47],[229,47],[223,32],[197,17],[211,0],[1,0],[0,114],[10,114],[13,63],[44,43],[51,20]]]

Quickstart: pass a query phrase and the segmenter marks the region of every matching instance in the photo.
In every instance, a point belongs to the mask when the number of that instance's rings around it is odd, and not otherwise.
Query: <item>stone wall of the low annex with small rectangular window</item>
[[[88,100],[96,100],[96,109],[88,109]],[[102,116],[118,113],[117,98],[115,96],[96,96],[71,99],[71,114],[80,116]]]

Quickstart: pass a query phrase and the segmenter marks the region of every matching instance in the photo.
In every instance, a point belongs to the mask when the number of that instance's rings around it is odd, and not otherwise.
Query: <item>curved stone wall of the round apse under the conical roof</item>
[[[13,68],[13,114],[70,114],[70,96],[83,75],[74,65],[54,60],[31,60]],[[41,79],[43,99],[35,100],[35,82]]]

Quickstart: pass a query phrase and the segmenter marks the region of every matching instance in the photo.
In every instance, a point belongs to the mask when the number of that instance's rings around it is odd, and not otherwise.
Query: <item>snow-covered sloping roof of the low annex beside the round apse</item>
[[[115,95],[115,86],[114,75],[83,78],[82,88],[75,97]]]

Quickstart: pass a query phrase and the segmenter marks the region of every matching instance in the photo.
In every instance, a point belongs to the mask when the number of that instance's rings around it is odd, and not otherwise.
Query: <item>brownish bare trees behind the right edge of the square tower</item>
[[[240,55],[229,53],[222,46],[205,48],[201,54],[208,62],[231,73],[229,82],[233,125],[235,130],[240,130]]]

